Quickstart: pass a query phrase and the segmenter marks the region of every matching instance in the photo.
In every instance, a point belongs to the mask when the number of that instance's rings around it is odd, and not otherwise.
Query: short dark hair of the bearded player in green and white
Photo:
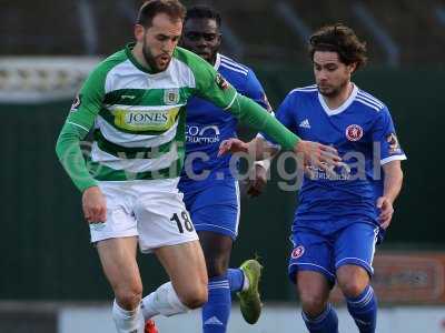
[[[184,21],[186,8],[178,0],[148,0],[140,7],[136,23],[149,28],[158,13],[169,16],[172,21]]]

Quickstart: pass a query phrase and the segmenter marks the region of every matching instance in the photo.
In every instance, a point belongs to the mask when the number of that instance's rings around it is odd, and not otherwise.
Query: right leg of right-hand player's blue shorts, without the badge
[[[335,270],[345,265],[358,266],[373,275],[373,260],[378,226],[370,223],[352,223],[338,231],[335,240]]]

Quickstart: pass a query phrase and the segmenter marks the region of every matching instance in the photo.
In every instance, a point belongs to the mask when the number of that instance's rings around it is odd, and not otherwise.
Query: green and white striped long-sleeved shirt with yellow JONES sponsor
[[[131,53],[134,44],[103,60],[83,83],[57,143],[57,153],[79,190],[96,181],[178,176],[185,155],[187,100],[197,94],[233,112],[287,148],[283,133],[259,105],[238,95],[198,56],[176,48],[168,68],[150,73]],[[258,113],[260,112],[260,113]],[[93,130],[88,167],[79,140]]]

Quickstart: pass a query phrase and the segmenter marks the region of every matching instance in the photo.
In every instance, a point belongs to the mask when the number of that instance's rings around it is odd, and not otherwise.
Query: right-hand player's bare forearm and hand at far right
[[[380,209],[380,215],[378,216],[380,225],[383,229],[387,229],[394,213],[394,201],[400,192],[403,183],[400,161],[392,161],[384,164],[383,172],[385,173],[384,192],[377,199],[376,204]]]

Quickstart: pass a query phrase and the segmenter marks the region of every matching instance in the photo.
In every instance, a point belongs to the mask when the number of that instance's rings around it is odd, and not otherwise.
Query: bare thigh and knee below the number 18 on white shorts
[[[154,250],[182,301],[207,297],[207,272],[199,241]]]

